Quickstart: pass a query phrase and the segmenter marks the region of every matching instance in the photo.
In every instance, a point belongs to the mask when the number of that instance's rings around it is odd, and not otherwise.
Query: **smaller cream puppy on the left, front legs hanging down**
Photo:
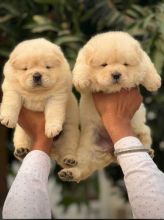
[[[46,39],[18,44],[4,66],[1,123],[14,128],[15,156],[22,159],[31,138],[17,124],[22,106],[44,112],[45,133],[56,137],[51,152],[62,167],[74,166],[79,141],[79,113],[72,89],[72,76],[61,49]]]

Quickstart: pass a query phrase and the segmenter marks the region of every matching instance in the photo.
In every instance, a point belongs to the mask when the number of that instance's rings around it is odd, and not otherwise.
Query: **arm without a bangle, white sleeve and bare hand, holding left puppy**
[[[48,176],[52,139],[44,134],[43,113],[22,109],[19,124],[33,138],[34,144],[9,190],[3,207],[3,218],[50,219]]]

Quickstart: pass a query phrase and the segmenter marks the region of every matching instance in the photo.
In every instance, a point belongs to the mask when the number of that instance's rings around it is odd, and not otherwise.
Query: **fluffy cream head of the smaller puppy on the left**
[[[4,67],[5,77],[19,82],[26,90],[51,89],[68,73],[60,48],[42,38],[18,44]]]

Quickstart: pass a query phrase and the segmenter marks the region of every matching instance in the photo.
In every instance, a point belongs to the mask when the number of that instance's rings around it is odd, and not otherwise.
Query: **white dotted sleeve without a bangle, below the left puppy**
[[[4,219],[51,219],[48,196],[50,158],[42,151],[27,154],[9,190]]]

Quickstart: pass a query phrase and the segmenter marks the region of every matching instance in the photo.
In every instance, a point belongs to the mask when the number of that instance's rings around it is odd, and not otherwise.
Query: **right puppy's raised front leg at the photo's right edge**
[[[157,73],[149,56],[144,51],[142,53],[142,65],[144,69],[144,78],[141,84],[150,92],[157,91],[161,86],[161,77]]]

